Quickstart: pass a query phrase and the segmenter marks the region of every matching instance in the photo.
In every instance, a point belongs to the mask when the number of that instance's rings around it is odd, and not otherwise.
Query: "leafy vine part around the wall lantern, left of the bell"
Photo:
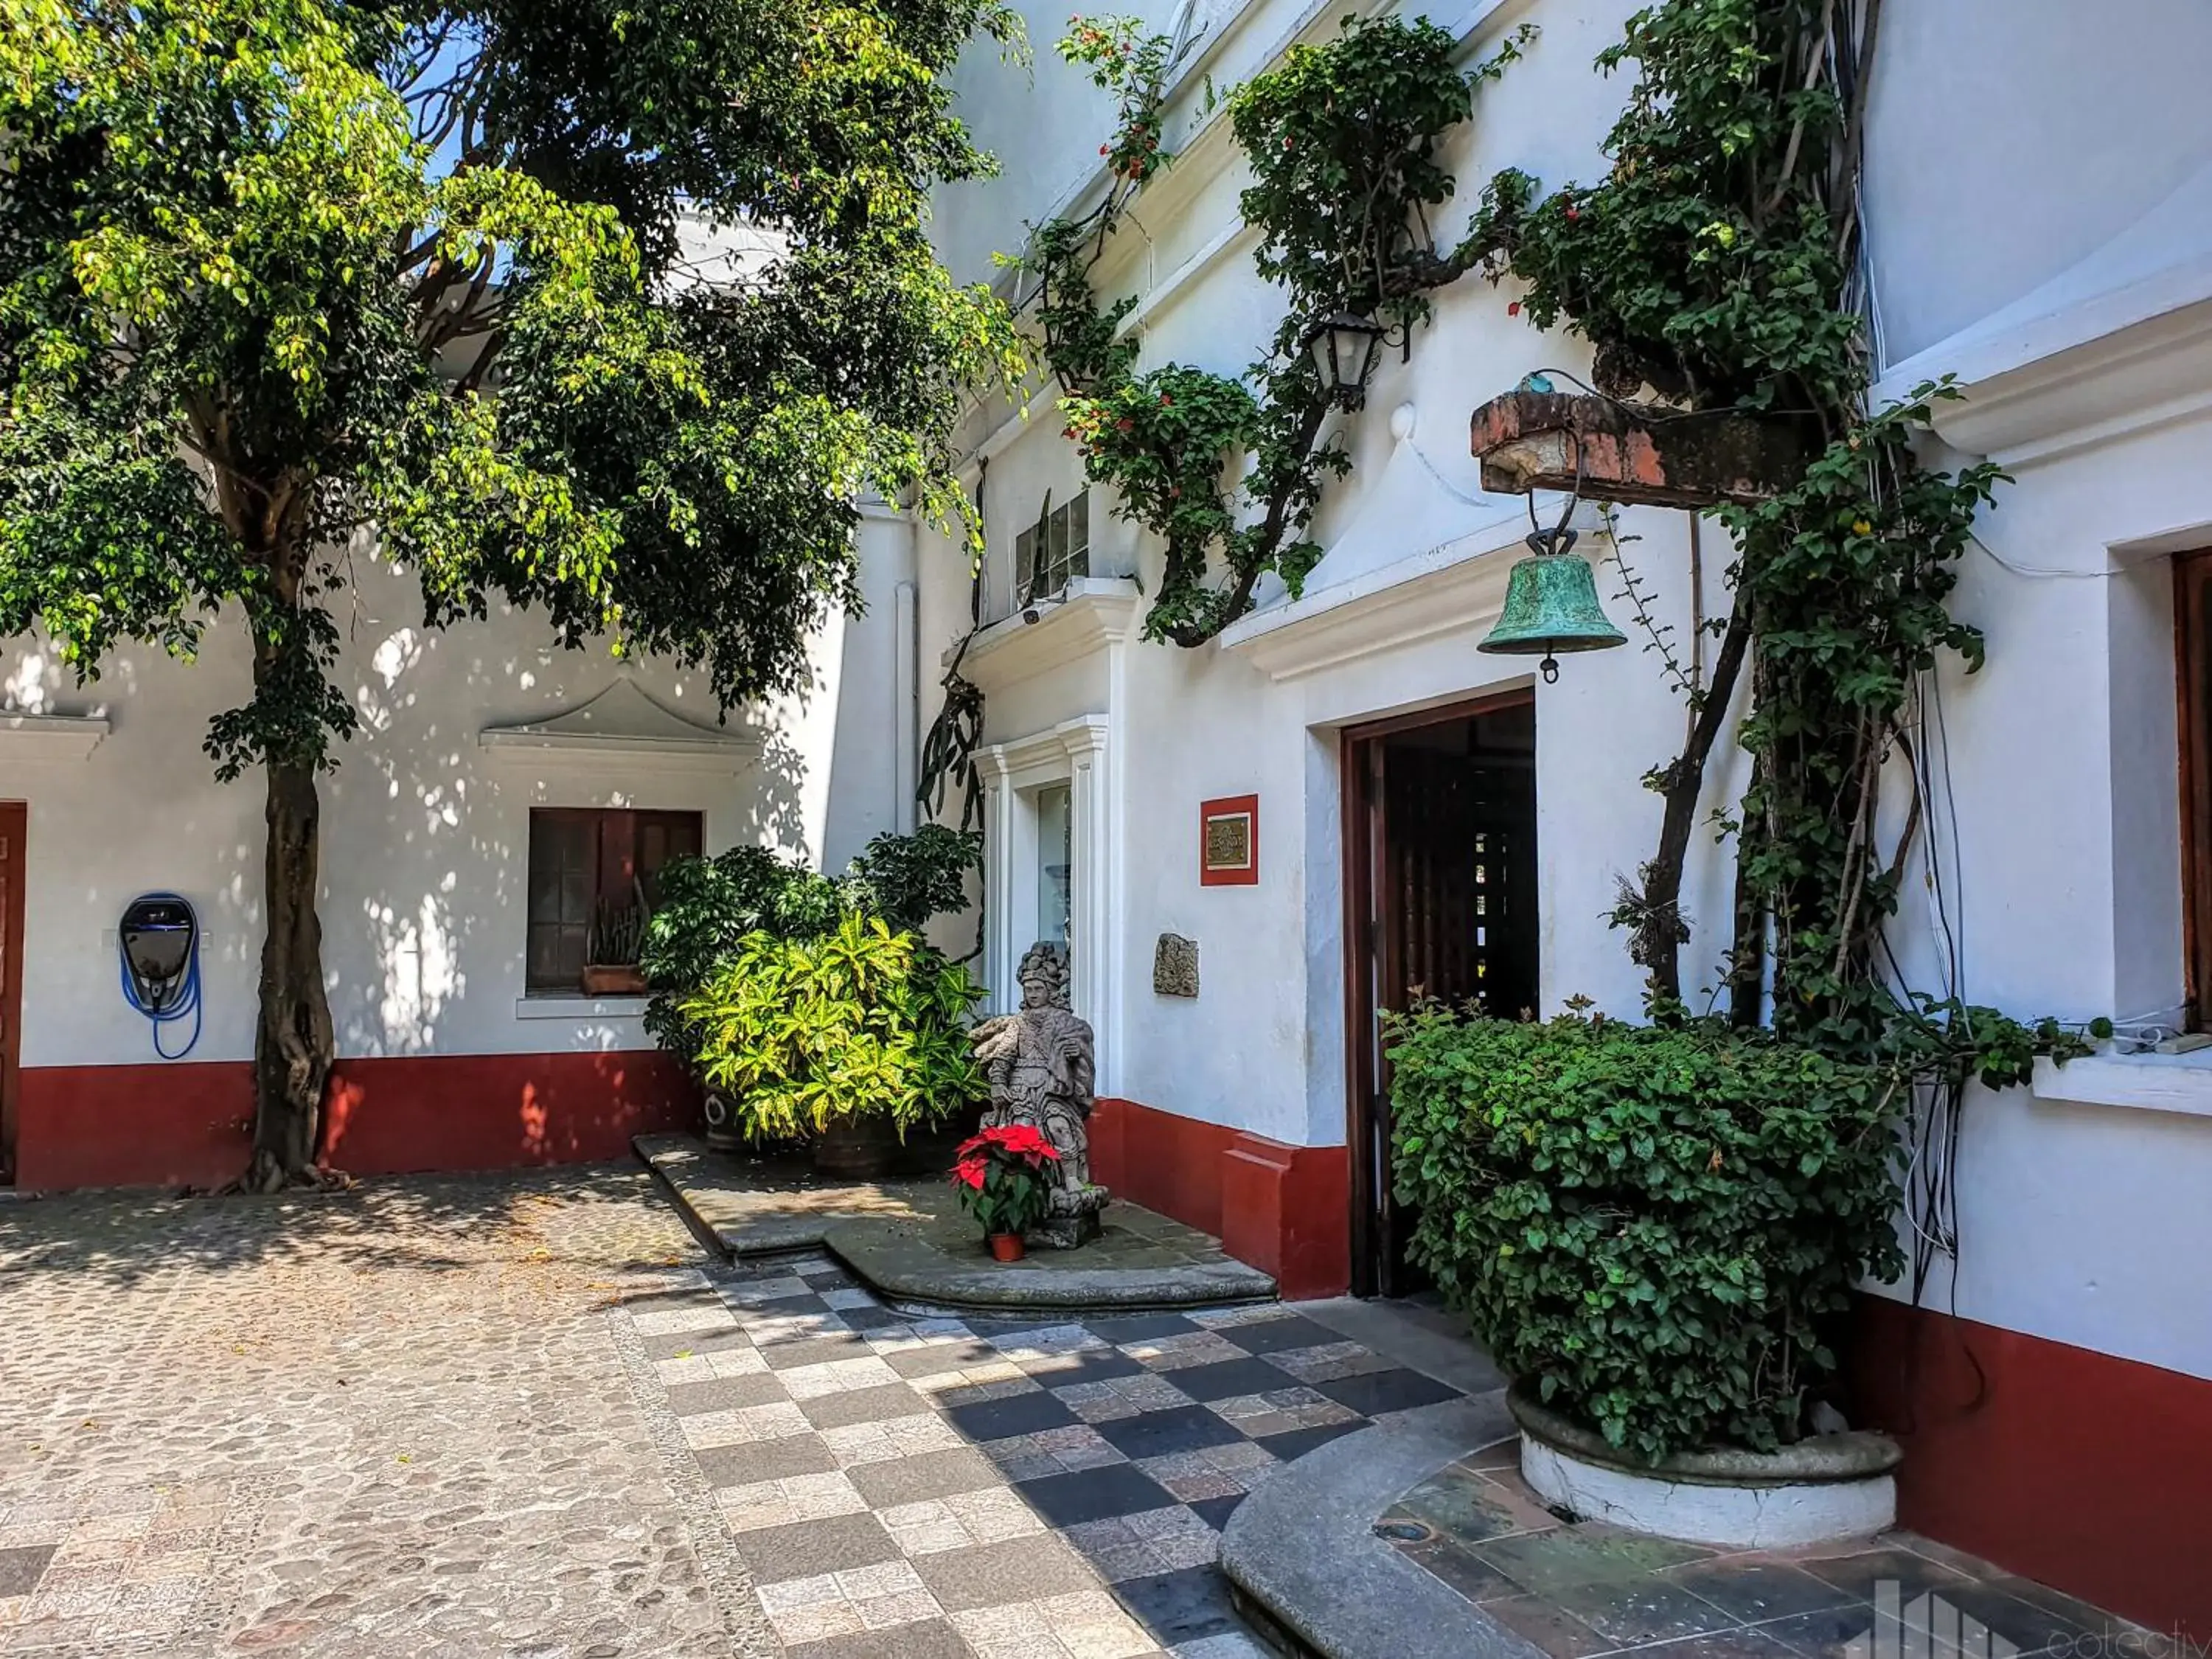
[[[1400,18],[1345,20],[1318,46],[1228,97],[1230,131],[1252,166],[1239,199],[1259,234],[1256,265],[1290,296],[1267,356],[1243,374],[1168,363],[1141,369],[1124,327],[1135,296],[1102,303],[1093,268],[1164,148],[1166,35],[1130,18],[1075,18],[1060,53],[1117,100],[1099,146],[1108,190],[1088,212],[1033,228],[1020,265],[1035,279],[1044,363],[1062,389],[1066,436],[1115,513],[1166,544],[1146,637],[1199,646],[1243,615],[1263,575],[1296,593],[1321,549],[1305,535],[1352,458],[1323,436],[1338,398],[1307,347],[1321,316],[1352,312],[1400,341],[1429,319],[1429,294],[1464,276],[1478,252],[1440,250],[1429,215],[1451,199],[1438,148],[1475,88],[1520,58],[1515,31],[1471,73],[1442,29]]]

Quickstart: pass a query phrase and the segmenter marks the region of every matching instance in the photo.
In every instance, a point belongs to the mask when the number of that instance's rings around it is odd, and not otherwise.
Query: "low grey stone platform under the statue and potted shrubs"
[[[1102,1237],[1082,1250],[998,1263],[942,1175],[836,1183],[803,1159],[710,1152],[690,1135],[639,1135],[635,1146],[692,1225],[732,1259],[821,1248],[891,1301],[1157,1312],[1276,1296],[1274,1279],[1223,1254],[1217,1239],[1135,1203],[1108,1203]]]

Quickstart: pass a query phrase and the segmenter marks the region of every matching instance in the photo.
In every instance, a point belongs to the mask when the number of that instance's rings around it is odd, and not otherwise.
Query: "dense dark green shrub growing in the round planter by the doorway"
[[[1522,1387],[1652,1462],[1805,1433],[1851,1285],[1902,1270],[1893,1073],[1705,1024],[1387,1042],[1411,1256]]]

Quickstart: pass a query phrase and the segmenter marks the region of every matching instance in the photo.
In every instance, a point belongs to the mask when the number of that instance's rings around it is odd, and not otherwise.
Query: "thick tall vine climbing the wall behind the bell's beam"
[[[1927,823],[1913,787],[1882,845],[1893,759],[1913,759],[1944,655],[1982,664],[1949,613],[1975,513],[2004,476],[1922,467],[1916,434],[1949,385],[1867,407],[1858,314],[1858,157],[1880,0],[1661,0],[1599,69],[1637,80],[1597,184],[1544,195],[1504,170],[1462,243],[1524,283],[1537,327],[1590,341],[1601,396],[1646,409],[1734,409],[1796,431],[1805,462],[1756,504],[1721,504],[1736,557],[1710,672],[1690,688],[1683,752],[1646,783],[1668,810],[1615,920],[1681,1004],[1681,872],[1708,759],[1739,690],[1752,779],[1736,838],[1732,1013],[1849,1053],[2020,1082],[2068,1046],[1989,1009],[1898,993],[1882,940]],[[1918,765],[1905,768],[1918,779]],[[1893,816],[1893,814],[1891,814]]]

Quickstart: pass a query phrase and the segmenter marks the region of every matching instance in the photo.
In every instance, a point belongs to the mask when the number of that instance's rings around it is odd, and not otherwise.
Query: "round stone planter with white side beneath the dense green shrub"
[[[1781,1451],[1683,1451],[1652,1467],[1515,1387],[1522,1480],[1588,1520],[1690,1544],[1790,1548],[1896,1526],[1905,1455],[1880,1433],[1825,1433]]]

